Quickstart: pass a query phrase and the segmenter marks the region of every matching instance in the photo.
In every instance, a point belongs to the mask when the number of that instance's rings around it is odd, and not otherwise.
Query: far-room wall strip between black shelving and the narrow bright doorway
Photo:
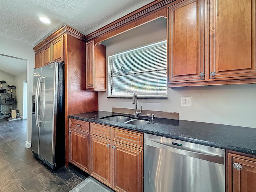
[[[17,109],[23,116],[23,82],[27,79],[27,72],[15,76]]]

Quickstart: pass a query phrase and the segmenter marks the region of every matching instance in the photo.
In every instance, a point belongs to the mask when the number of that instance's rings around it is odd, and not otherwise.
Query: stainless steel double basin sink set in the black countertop
[[[141,118],[137,119],[135,117],[122,116],[122,115],[106,116],[106,117],[102,117],[100,119],[113,121],[113,122],[119,122],[119,123],[125,123],[125,124],[130,124],[130,125],[137,125],[137,126],[146,125],[147,123],[150,122],[150,120],[148,120],[148,119],[142,120]]]

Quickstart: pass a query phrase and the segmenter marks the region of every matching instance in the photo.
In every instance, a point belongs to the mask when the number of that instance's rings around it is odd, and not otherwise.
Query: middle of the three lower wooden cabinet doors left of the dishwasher
[[[112,142],[111,140],[90,134],[90,174],[107,186],[113,186]]]

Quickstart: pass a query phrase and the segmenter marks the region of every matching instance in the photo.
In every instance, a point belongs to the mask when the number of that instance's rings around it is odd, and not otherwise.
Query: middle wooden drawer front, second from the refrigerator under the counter
[[[111,127],[90,123],[90,133],[104,138],[111,139]]]

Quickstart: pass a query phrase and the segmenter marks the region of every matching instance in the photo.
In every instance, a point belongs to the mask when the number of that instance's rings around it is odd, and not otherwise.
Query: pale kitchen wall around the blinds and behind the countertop
[[[103,42],[106,55],[166,38],[166,28],[151,26],[145,29],[144,32],[138,30],[133,36],[128,34]],[[107,99],[107,96],[107,92],[99,93],[99,110],[134,108],[131,99]],[[191,107],[180,105],[182,96],[192,96]],[[178,112],[181,120],[256,128],[255,97],[256,84],[168,88],[167,100],[139,99],[138,108],[142,105],[142,110]]]

